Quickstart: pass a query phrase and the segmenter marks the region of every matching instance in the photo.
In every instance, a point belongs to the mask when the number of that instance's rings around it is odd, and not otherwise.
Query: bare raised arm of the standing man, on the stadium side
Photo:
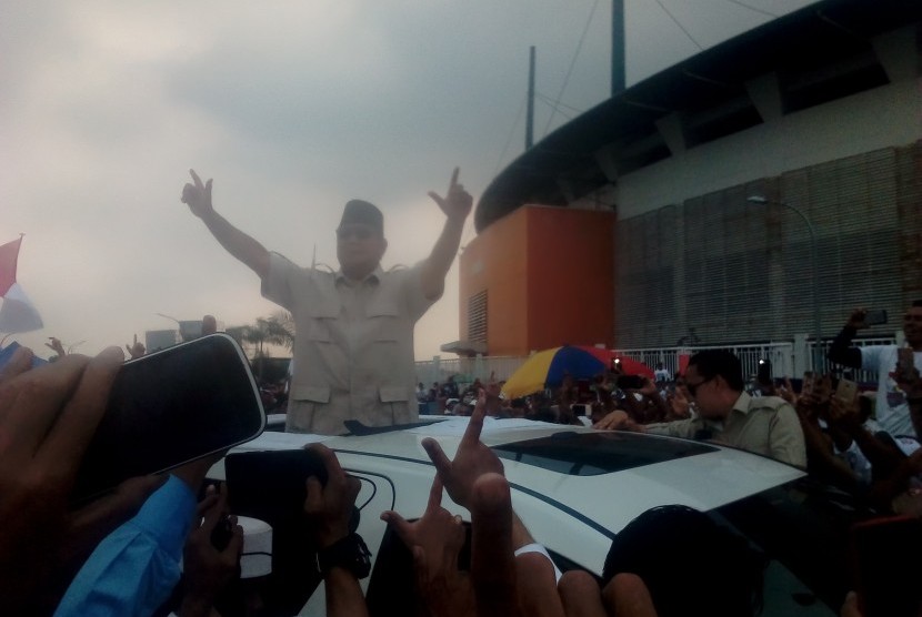
[[[454,168],[444,198],[435,192],[429,192],[429,196],[439,204],[447,216],[439,240],[435,241],[432,252],[422,264],[422,291],[429,300],[440,297],[445,289],[445,275],[454,261],[458,247],[461,246],[464,221],[473,206],[473,198],[462,184],[458,183],[458,168]]]

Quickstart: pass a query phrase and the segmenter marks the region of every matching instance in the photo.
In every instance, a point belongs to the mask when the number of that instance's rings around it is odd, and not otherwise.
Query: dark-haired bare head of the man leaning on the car
[[[689,360],[685,388],[702,417],[726,418],[744,387],[740,358],[732,352],[705,350]]]

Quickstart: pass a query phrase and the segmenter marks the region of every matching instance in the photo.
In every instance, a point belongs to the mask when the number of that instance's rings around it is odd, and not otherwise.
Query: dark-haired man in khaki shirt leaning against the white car
[[[694,398],[698,417],[641,425],[617,409],[595,427],[709,439],[806,467],[806,446],[796,412],[778,396],[746,394],[742,366],[731,352],[706,350],[693,355],[685,384]]]

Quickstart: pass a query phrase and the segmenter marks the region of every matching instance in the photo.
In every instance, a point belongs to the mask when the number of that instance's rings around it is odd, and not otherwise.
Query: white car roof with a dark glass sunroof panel
[[[363,436],[267,432],[232,452],[322,442],[341,454],[431,466],[422,441],[434,438],[452,458],[468,419]],[[683,504],[710,510],[805,475],[772,458],[718,444],[518,418],[485,418],[481,441],[503,458],[514,488],[591,513],[614,532],[653,506]],[[600,494],[622,498],[607,499],[604,512],[597,512]]]

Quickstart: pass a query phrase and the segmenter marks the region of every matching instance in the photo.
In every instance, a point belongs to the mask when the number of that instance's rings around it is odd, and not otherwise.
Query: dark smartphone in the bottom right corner
[[[853,585],[863,617],[915,617],[922,606],[922,520],[888,516],[852,526]],[[906,558],[910,557],[910,558]]]

